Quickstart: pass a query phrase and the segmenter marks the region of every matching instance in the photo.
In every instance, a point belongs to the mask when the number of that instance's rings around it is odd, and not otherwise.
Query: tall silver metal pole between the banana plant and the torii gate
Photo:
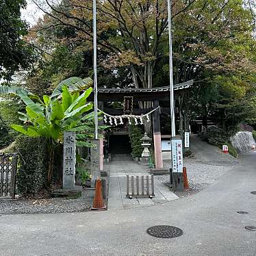
[[[96,0],[93,0],[93,71],[94,71],[94,123],[95,140],[98,140],[98,83],[97,83],[97,20]]]

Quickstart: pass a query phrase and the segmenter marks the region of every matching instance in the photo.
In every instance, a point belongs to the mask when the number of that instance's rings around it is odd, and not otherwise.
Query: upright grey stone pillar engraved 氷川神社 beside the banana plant
[[[63,188],[75,186],[75,132],[65,131],[63,142]]]

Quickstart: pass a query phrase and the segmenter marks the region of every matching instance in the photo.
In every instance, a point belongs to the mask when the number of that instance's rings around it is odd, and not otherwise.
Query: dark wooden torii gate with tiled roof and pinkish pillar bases
[[[193,81],[187,81],[174,86],[175,96],[188,90],[193,85]],[[161,146],[161,129],[159,118],[159,101],[170,102],[170,86],[155,87],[155,88],[98,88],[98,108],[107,114],[113,116],[123,115],[123,110],[107,109],[105,102],[124,101],[124,97],[133,97],[133,101],[151,101],[153,107],[150,109],[134,109],[134,115],[141,115],[156,109],[153,112],[153,143],[155,150],[155,167],[163,168],[162,146]],[[170,107],[161,108],[162,112],[170,113]],[[102,122],[102,121],[101,121]],[[100,138],[100,170],[103,170],[103,138]]]

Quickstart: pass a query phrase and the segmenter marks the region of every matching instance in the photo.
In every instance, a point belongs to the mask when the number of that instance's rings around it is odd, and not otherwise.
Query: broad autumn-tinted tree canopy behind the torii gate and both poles
[[[33,1],[44,16],[26,37],[39,50],[26,88],[50,94],[67,77],[92,78],[92,1]],[[172,1],[174,81],[194,80],[176,101],[184,120],[253,123],[246,113],[255,107],[255,7],[251,0]],[[100,87],[169,84],[167,1],[98,1],[97,32]]]

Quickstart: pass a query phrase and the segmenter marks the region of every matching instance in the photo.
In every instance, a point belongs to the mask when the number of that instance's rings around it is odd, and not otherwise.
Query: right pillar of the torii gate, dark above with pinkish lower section
[[[159,101],[153,101],[153,108],[159,106]],[[163,168],[161,131],[160,131],[160,113],[159,109],[153,112],[153,140],[155,149],[155,168]]]

